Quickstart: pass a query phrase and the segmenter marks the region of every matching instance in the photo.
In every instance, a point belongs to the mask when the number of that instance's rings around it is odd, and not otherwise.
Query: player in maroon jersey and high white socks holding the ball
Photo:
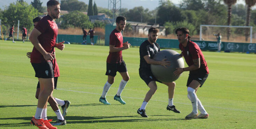
[[[180,42],[179,47],[182,53],[181,55],[184,56],[188,67],[176,68],[177,70],[174,71],[174,74],[178,76],[184,71],[189,71],[187,91],[188,98],[193,106],[193,111],[188,114],[185,119],[206,119],[209,115],[204,109],[201,101],[196,96],[198,88],[202,87],[209,74],[206,60],[204,59],[200,47],[193,41],[190,41],[189,30],[187,28],[178,28],[175,32],[178,41]],[[200,115],[198,115],[197,109],[201,112]]]

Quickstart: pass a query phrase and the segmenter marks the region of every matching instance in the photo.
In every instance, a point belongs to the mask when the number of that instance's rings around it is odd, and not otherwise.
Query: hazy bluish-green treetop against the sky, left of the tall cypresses
[[[61,0],[60,8],[61,10],[67,10],[68,12],[79,10],[81,12],[87,11],[87,6],[85,2],[78,0]]]

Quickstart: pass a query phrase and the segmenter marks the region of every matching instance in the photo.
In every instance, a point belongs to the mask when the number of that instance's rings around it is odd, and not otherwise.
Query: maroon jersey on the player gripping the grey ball
[[[209,69],[208,69],[206,60],[204,59],[204,56],[200,47],[196,43],[189,40],[186,47],[183,47],[182,44],[179,44],[179,47],[180,47],[180,50],[182,51],[182,54],[188,66],[191,66],[194,64],[193,62],[194,59],[200,58],[200,63],[201,63],[200,68],[189,71],[189,74],[209,74]]]

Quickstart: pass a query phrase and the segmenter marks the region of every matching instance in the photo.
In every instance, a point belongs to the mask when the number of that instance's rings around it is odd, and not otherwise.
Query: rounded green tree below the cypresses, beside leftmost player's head
[[[61,27],[63,29],[69,27],[79,27],[79,28],[92,28],[93,24],[89,21],[89,17],[80,11],[73,11],[68,14],[64,14],[61,17]]]

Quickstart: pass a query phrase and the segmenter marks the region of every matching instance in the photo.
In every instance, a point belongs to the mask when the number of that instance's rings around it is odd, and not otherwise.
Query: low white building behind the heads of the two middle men
[[[158,35],[165,36],[166,34],[165,32],[166,29],[164,28],[164,26],[159,26],[159,24],[148,25],[147,23],[130,22],[130,21],[127,21],[127,23],[129,23],[132,26],[135,33],[147,35],[149,28],[155,27],[159,29]]]

